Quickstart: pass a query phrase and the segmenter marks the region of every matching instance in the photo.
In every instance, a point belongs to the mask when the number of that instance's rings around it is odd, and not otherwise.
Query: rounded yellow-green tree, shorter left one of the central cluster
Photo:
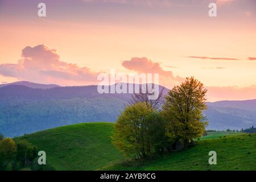
[[[146,102],[127,106],[115,124],[113,144],[127,156],[150,158],[160,151],[165,137],[164,119]]]

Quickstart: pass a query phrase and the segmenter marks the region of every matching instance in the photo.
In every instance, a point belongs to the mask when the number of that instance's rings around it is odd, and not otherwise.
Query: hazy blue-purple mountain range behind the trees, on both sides
[[[167,94],[168,89],[163,89]],[[27,81],[2,84],[0,133],[14,137],[81,122],[115,122],[130,100],[131,94],[100,94],[97,85],[59,86]],[[256,125],[256,100],[207,102],[207,106],[207,129],[237,130]]]

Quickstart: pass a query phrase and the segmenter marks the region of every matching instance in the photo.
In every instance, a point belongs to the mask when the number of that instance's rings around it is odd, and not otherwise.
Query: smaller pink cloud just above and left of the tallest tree
[[[171,71],[164,71],[159,63],[154,63],[147,57],[133,57],[131,60],[123,61],[122,66],[137,73],[158,73],[160,81],[166,86],[173,86],[184,81],[184,78],[174,76]]]

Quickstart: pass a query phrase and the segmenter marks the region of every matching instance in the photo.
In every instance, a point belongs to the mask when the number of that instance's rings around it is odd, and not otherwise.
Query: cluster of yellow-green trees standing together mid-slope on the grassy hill
[[[113,144],[127,156],[150,159],[175,147],[195,144],[193,139],[205,132],[203,110],[207,89],[194,77],[162,93],[156,100],[147,100],[149,93],[134,94],[131,105],[119,115]],[[145,98],[145,99],[143,99]],[[159,107],[158,107],[159,106]],[[162,106],[162,109],[160,109]]]

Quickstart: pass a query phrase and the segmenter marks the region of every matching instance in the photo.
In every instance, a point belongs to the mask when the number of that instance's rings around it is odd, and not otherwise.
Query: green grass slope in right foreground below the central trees
[[[217,152],[217,165],[208,164],[209,151]],[[195,147],[155,159],[142,166],[115,164],[109,170],[256,170],[256,134],[230,135],[200,141]]]

